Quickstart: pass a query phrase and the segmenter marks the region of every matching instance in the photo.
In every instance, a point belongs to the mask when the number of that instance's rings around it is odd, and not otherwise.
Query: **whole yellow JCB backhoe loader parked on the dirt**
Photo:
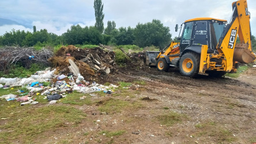
[[[180,32],[183,28],[180,43],[172,42],[165,51],[147,51],[146,64],[160,71],[179,67],[182,75],[194,77],[197,74],[222,76],[236,72],[238,62],[253,62],[247,1],[233,2],[232,9],[229,23],[216,18],[185,21],[180,26]],[[238,36],[240,43],[236,44]]]

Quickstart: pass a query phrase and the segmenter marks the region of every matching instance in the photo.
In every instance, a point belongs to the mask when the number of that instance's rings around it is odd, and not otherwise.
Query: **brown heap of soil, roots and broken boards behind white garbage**
[[[72,45],[63,46],[48,60],[52,67],[57,68],[56,74],[73,72],[77,77],[80,73],[82,77],[92,81],[113,73],[116,69],[114,52],[104,51],[99,47],[82,49]]]

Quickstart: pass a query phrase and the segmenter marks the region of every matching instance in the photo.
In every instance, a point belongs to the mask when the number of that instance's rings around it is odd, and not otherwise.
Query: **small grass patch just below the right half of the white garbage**
[[[80,97],[86,96],[84,100],[80,100]],[[74,105],[91,105],[91,96],[89,94],[79,93],[79,92],[73,92],[70,94],[67,94],[66,97],[61,98],[61,103],[63,104],[74,104]]]

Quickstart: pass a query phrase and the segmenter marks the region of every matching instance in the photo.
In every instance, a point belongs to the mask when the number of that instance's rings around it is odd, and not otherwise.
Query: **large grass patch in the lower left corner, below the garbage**
[[[34,139],[45,131],[58,127],[66,127],[65,123],[73,126],[81,123],[86,114],[76,108],[52,105],[48,107],[32,108],[32,105],[20,106],[20,103],[2,103],[0,109],[1,118],[7,118],[5,122],[0,119],[0,139],[3,143],[12,143],[20,140],[21,143],[27,139]],[[6,137],[7,136],[7,137]],[[31,141],[32,142],[32,141]]]

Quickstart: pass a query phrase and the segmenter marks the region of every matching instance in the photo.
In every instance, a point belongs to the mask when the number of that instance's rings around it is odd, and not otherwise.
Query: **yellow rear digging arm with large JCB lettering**
[[[251,46],[251,28],[250,13],[246,0],[240,0],[232,3],[233,13],[229,24],[227,24],[223,35],[220,38],[217,50],[220,55],[225,56],[225,71],[229,72],[234,64],[234,50],[236,46],[236,38],[239,36],[241,43],[246,43],[251,55],[253,54]]]

